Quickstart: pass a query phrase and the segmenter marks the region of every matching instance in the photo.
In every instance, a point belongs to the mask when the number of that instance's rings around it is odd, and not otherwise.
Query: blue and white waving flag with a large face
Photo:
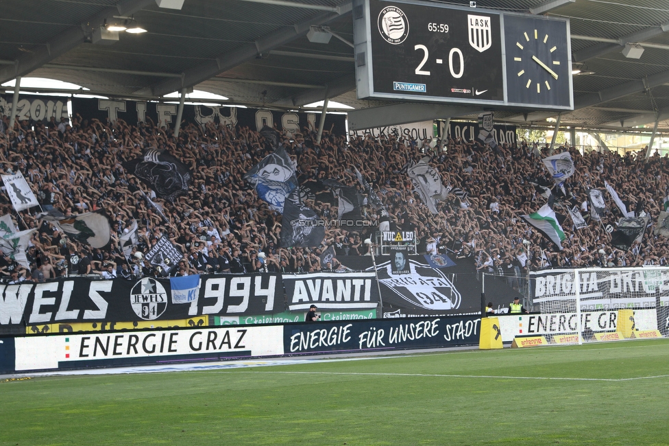
[[[263,158],[244,179],[251,183],[258,197],[269,203],[271,209],[283,212],[287,196],[297,187],[295,166],[284,148],[278,148]]]

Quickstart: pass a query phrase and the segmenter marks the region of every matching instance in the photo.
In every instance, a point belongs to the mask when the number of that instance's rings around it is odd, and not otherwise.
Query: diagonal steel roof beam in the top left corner
[[[114,15],[132,15],[149,5],[155,4],[156,0],[122,0],[115,6],[104,8],[94,16],[90,16],[83,21],[80,26],[69,27],[44,45],[38,45],[32,53],[24,54],[16,59],[14,66],[0,68],[0,84],[12,80],[16,76],[25,76],[32,73],[32,71],[35,71],[43,64],[84,43],[86,34],[90,34],[95,27],[101,25],[108,17]]]

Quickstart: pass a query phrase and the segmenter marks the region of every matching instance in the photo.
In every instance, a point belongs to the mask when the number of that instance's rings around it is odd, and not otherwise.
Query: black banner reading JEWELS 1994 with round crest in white
[[[278,274],[203,275],[195,299],[173,303],[168,279],[88,277],[0,285],[0,333],[60,322],[141,322],[193,316],[262,315],[284,311]],[[180,301],[177,299],[177,301]]]

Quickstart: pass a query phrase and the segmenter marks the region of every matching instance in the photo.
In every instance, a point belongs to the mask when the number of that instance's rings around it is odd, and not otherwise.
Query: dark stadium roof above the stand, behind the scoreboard
[[[161,99],[185,88],[247,106],[300,108],[326,94],[357,110],[389,104],[356,97],[350,1],[184,0],[181,9],[173,9],[178,3],[5,1],[0,84],[20,75],[73,82],[88,94],[128,99]],[[448,3],[469,5],[468,0]],[[479,8],[570,19],[574,67],[592,74],[574,75],[575,106],[561,115],[563,126],[652,127],[659,116],[659,128],[669,130],[666,0],[477,3]],[[119,32],[118,40],[107,40],[100,27],[112,24],[136,24],[147,32]],[[306,37],[310,25],[328,27],[335,38],[327,45],[311,43]],[[626,58],[621,52],[626,43],[641,45],[641,58]],[[496,119],[546,125],[546,118],[556,116],[507,110]]]

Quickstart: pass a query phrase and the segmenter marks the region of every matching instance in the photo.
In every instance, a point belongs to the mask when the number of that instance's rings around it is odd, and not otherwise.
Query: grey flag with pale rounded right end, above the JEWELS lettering
[[[65,217],[60,211],[52,210],[38,215],[40,220],[47,220],[58,229],[79,242],[102,248],[109,243],[109,220],[99,212],[86,212]]]

